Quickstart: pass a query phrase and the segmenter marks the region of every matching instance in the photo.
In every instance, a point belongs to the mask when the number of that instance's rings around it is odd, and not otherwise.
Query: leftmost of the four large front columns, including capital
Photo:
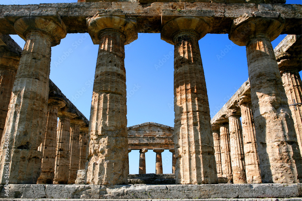
[[[9,162],[10,184],[36,184],[42,159],[37,149],[46,128],[51,46],[66,36],[66,27],[58,16],[32,16],[15,20],[14,29],[26,43],[3,130],[0,178],[1,184],[6,183],[4,165]]]

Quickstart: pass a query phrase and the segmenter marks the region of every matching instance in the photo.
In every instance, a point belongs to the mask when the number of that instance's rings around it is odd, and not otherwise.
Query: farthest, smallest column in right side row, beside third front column
[[[220,152],[220,126],[212,124],[212,131],[213,131],[213,139],[214,139],[217,177],[222,177],[221,152]]]

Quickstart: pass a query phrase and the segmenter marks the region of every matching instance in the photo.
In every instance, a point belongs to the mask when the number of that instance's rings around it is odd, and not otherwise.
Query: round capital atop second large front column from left
[[[93,17],[86,18],[88,33],[95,45],[100,44],[100,35],[102,31],[119,31],[125,35],[125,45],[137,39],[137,22],[133,17],[122,15],[104,15],[97,13]]]

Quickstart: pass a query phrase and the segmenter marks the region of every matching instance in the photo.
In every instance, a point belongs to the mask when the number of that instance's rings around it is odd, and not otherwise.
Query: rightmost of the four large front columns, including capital
[[[280,13],[267,11],[268,18],[263,12],[233,20],[229,38],[246,46],[262,183],[296,183],[302,174],[300,150],[271,45],[283,22]]]

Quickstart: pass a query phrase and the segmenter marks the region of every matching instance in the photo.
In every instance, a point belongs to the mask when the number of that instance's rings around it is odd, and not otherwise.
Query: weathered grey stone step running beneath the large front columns
[[[1,185],[1,198],[53,199],[194,199],[301,197],[302,184],[201,184],[201,185],[49,185],[10,184],[9,197]],[[123,193],[121,193],[123,192]],[[184,193],[185,192],[185,193]],[[199,199],[196,199],[199,198]],[[297,200],[299,198],[293,199]],[[14,199],[18,200],[19,199]],[[21,200],[21,199],[20,199]],[[224,199],[223,199],[224,200]],[[241,200],[241,199],[240,199]],[[243,199],[246,200],[246,199]]]

